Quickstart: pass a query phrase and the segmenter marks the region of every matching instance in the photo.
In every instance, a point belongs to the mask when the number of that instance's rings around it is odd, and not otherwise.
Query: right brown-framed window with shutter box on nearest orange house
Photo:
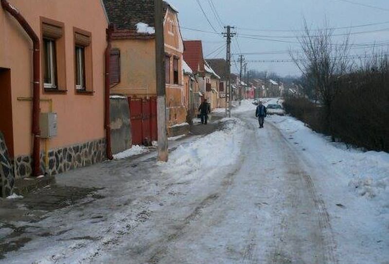
[[[92,37],[82,29],[74,32],[74,82],[78,94],[93,94]]]

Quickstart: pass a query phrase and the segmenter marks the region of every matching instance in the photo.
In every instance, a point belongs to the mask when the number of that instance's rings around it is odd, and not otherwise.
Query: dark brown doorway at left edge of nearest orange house
[[[11,70],[0,68],[0,131],[3,133],[8,153],[14,158],[14,133],[12,124]]]

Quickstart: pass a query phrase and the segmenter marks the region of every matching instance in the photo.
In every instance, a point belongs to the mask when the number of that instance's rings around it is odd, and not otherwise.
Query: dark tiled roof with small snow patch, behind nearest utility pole
[[[103,0],[113,38],[154,38],[154,0]],[[163,1],[163,12],[177,9]]]

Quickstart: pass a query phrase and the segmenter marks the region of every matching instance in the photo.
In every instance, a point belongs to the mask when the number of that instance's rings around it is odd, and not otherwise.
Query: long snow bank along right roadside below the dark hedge
[[[355,194],[377,203],[381,212],[389,213],[389,153],[348,149],[343,143],[333,143],[313,132],[293,117],[273,115],[268,120],[308,158],[332,166],[345,188],[348,186]]]

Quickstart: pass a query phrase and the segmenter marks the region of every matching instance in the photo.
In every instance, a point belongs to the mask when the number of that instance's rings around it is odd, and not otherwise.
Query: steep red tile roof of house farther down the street
[[[184,41],[184,60],[194,73],[204,72],[203,46],[201,40]]]

